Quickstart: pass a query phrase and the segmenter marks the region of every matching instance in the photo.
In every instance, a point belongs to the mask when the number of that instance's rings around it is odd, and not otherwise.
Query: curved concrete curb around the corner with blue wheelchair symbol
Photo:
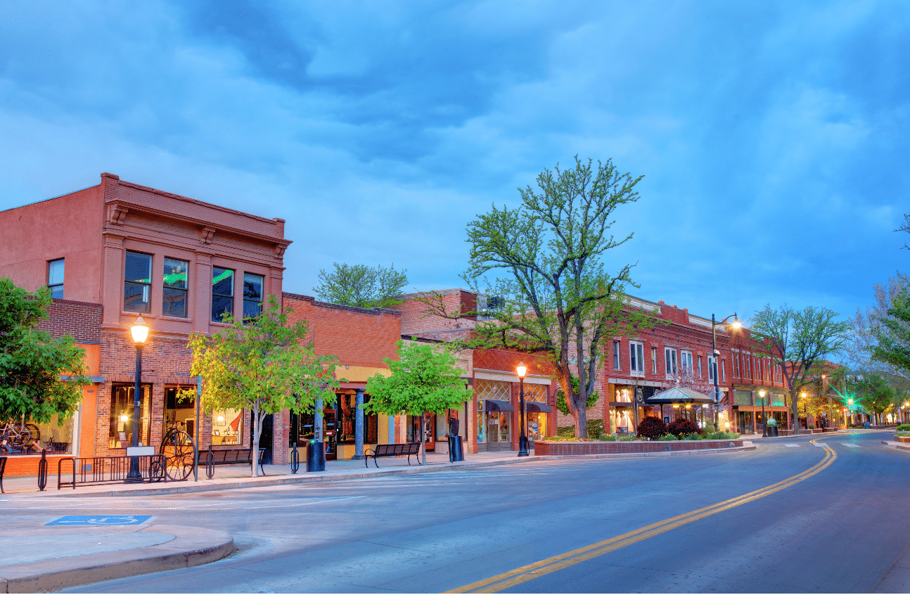
[[[42,528],[50,529],[50,528]],[[111,527],[97,527],[76,533],[90,538]],[[51,560],[37,560],[23,564],[0,567],[0,592],[34,593],[85,585],[100,580],[122,579],[137,574],[160,570],[189,568],[221,560],[234,550],[234,540],[227,533],[214,529],[175,525],[151,525],[141,529],[130,528],[116,532],[163,533],[174,540],[155,546],[109,550],[81,556],[67,556]],[[54,529],[44,530],[45,534]],[[57,534],[73,535],[72,531]]]

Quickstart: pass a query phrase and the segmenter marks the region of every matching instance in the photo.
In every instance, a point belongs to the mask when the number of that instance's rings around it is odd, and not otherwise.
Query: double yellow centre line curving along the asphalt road
[[[817,440],[817,439],[816,439]],[[814,442],[815,440],[812,440]],[[695,522],[696,520],[704,519],[705,517],[710,517],[718,512],[723,512],[724,510],[733,509],[737,506],[742,506],[747,502],[752,502],[753,500],[764,498],[765,496],[770,496],[774,492],[778,492],[782,489],[789,488],[794,484],[803,481],[804,479],[809,479],[814,476],[816,473],[820,473],[824,469],[827,469],[834,463],[834,460],[837,459],[837,453],[834,452],[834,449],[825,446],[824,447],[824,459],[821,460],[818,464],[813,467],[804,470],[798,475],[794,475],[791,478],[784,479],[783,481],[778,481],[770,486],[767,486],[762,489],[756,489],[755,491],[749,492],[748,494],[743,494],[739,498],[733,498],[728,500],[723,500],[723,502],[718,502],[711,506],[707,506],[703,509],[693,510],[692,512],[687,512],[681,514],[678,517],[673,517],[672,519],[665,519],[659,522],[648,525],[647,527],[642,527],[641,529],[635,529],[629,533],[623,533],[612,539],[599,541],[597,543],[592,543],[589,546],[579,548],[578,550],[571,550],[559,556],[553,556],[546,560],[540,560],[534,562],[533,564],[528,564],[527,566],[522,566],[515,570],[510,570],[503,574],[498,574],[489,579],[479,580],[477,582],[472,582],[470,585],[465,585],[458,589],[446,591],[449,593],[495,593],[503,589],[508,589],[515,585],[519,585],[522,582],[527,582],[528,580],[534,580],[540,578],[544,575],[550,574],[551,572],[556,572],[557,570],[562,570],[568,568],[584,560],[591,560],[592,558],[597,558],[603,554],[610,553],[611,551],[619,550],[632,543],[637,543],[642,540],[647,540],[654,537],[655,535],[660,535],[672,529],[677,529],[683,525],[688,525],[689,523]]]

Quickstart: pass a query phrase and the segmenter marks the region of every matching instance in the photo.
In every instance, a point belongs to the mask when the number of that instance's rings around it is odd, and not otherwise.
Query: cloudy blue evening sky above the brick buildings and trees
[[[608,270],[710,318],[907,272],[903,2],[0,3],[0,209],[102,172],[464,287],[467,225],[573,157],[644,176]],[[0,238],[2,241],[2,238]]]

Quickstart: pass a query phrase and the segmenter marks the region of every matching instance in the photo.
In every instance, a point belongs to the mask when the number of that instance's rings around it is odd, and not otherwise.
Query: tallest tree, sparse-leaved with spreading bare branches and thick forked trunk
[[[655,319],[625,298],[632,265],[606,272],[607,250],[621,246],[612,236],[613,211],[638,200],[642,177],[621,174],[608,160],[591,159],[537,176],[538,190],[519,188],[517,208],[492,206],[468,226],[470,261],[462,276],[472,290],[494,296],[502,308],[447,312],[440,295],[425,300],[430,313],[445,318],[484,314],[471,347],[507,348],[547,358],[575,419],[575,436],[587,438],[587,403],[594,391],[604,338],[649,328]],[[488,281],[485,275],[495,277]],[[480,283],[487,287],[480,287]],[[572,377],[579,379],[572,390]]]

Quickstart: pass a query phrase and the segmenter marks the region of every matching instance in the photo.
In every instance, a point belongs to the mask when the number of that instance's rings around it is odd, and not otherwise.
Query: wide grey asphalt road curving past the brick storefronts
[[[5,502],[0,519],[151,514],[226,530],[239,549],[74,592],[904,592],[910,452],[881,445],[889,436],[155,498],[36,496]]]

